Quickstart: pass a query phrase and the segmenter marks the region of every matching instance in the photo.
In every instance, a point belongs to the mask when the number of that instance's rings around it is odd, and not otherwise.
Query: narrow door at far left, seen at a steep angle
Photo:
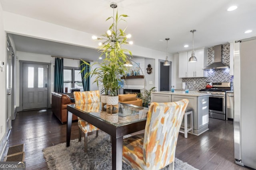
[[[7,40],[7,59],[6,59],[6,132],[12,128],[12,46]]]

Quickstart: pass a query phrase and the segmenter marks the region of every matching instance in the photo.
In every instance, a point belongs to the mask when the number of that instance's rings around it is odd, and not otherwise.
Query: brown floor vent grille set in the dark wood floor
[[[25,160],[25,149],[24,143],[20,145],[14,145],[8,148],[7,155],[4,156],[6,162],[24,162]]]

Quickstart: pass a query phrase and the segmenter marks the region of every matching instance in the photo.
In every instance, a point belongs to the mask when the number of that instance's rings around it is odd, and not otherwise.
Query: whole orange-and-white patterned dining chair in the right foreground
[[[137,170],[174,169],[175,149],[188,99],[178,102],[152,102],[144,134],[123,141],[123,162]]]

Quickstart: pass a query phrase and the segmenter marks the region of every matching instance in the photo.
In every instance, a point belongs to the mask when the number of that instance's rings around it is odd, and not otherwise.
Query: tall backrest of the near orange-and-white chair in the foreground
[[[143,157],[148,169],[161,169],[174,161],[180,125],[188,99],[152,102],[145,126]]]

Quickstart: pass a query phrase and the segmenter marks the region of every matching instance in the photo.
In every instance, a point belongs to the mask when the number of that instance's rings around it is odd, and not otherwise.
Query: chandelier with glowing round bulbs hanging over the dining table
[[[110,44],[112,47],[113,46],[120,46],[121,44],[130,44],[130,45],[132,45],[133,44],[132,41],[127,41],[127,39],[130,39],[132,37],[132,35],[131,34],[126,34],[122,29],[117,28],[118,21],[123,20],[123,19],[120,19],[118,17],[118,12],[116,12],[116,17],[115,17],[114,10],[115,10],[115,8],[117,8],[117,4],[112,2],[110,4],[110,7],[113,9],[113,17],[109,17],[107,20],[112,18],[113,19],[112,25],[110,26],[109,30],[106,31],[102,35],[102,37],[98,37],[96,35],[93,35],[92,39],[93,40],[103,40],[103,42],[98,43],[99,46],[106,45],[106,44]],[[120,17],[121,16],[122,17],[128,17],[127,15],[124,15],[124,14],[120,15]],[[123,21],[125,21],[125,20],[123,20]]]

